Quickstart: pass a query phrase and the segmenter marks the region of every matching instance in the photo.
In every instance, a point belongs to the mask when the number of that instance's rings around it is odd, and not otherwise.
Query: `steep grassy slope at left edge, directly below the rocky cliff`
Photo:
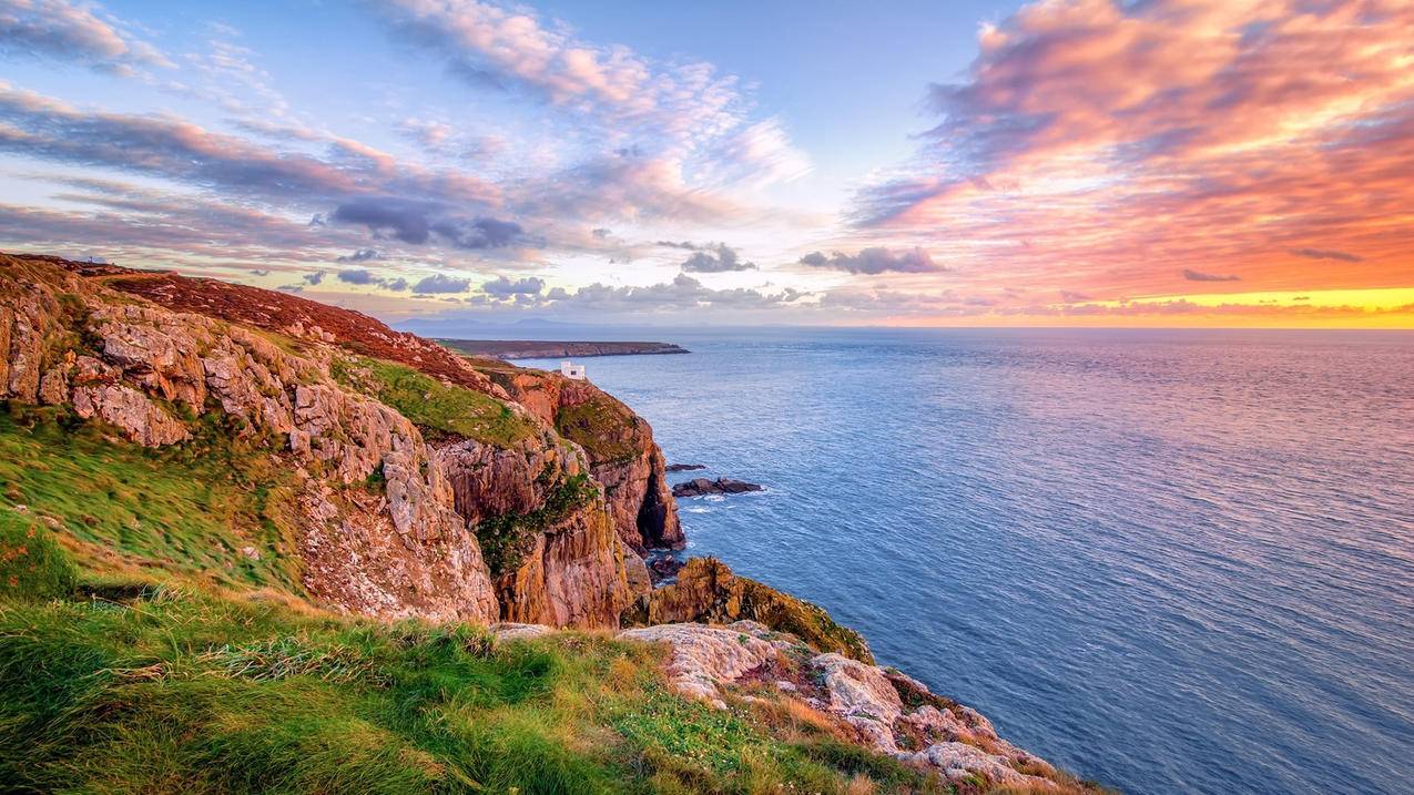
[[[76,542],[89,570],[300,594],[293,501],[291,475],[263,440],[235,440],[211,419],[192,441],[150,450],[59,409],[0,407],[0,516],[23,505]]]

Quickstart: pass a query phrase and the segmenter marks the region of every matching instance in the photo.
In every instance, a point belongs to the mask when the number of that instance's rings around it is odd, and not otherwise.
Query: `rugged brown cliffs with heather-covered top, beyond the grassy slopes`
[[[595,458],[556,429],[559,376],[519,371],[522,405],[477,362],[358,313],[168,273],[0,262],[4,396],[154,447],[214,413],[270,436],[301,472],[304,581],[321,603],[617,627],[649,590],[639,552],[682,538],[646,423],[612,402],[632,460]],[[370,478],[376,498],[348,488]],[[577,480],[592,494],[549,506]]]

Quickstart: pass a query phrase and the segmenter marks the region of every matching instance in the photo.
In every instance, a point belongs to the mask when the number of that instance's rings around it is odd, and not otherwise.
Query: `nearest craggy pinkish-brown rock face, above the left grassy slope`
[[[370,615],[492,620],[481,549],[417,427],[342,389],[331,352],[300,352],[211,317],[124,300],[49,262],[0,257],[3,396],[71,407],[139,444],[187,441],[204,417],[269,437],[300,472],[305,586]],[[376,475],[383,494],[346,488]]]

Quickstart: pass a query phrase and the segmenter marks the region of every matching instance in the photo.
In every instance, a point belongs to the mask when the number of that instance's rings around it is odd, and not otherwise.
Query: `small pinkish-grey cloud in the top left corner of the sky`
[[[151,45],[106,21],[88,4],[0,0],[0,54],[71,61],[127,74],[136,65],[173,66]]]

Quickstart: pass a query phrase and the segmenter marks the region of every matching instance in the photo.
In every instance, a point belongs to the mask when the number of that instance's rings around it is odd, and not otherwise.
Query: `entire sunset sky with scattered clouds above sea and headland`
[[[0,0],[0,249],[438,328],[1414,328],[1414,3]]]

